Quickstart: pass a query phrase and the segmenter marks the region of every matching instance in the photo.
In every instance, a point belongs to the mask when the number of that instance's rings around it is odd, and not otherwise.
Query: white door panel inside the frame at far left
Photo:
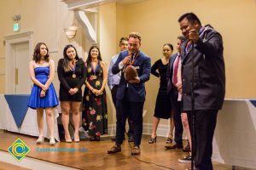
[[[15,44],[15,94],[30,94],[28,42]]]

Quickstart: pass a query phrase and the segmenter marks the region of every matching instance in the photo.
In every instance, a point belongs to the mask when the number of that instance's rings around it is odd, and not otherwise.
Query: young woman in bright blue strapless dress
[[[52,59],[49,59],[48,52],[46,44],[39,42],[34,49],[33,59],[29,64],[29,73],[34,84],[28,106],[37,110],[38,144],[44,142],[44,110],[49,126],[49,144],[55,144],[53,108],[58,105],[58,99],[52,84],[55,76],[55,63]]]

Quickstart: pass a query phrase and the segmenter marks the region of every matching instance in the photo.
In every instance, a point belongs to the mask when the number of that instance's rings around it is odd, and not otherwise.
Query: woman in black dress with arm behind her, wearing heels
[[[163,46],[163,57],[158,59],[154,65],[151,67],[151,74],[155,77],[160,77],[160,88],[157,94],[155,108],[154,108],[154,118],[153,118],[153,128],[151,139],[148,143],[153,144],[156,142],[156,130],[160,122],[160,118],[169,119],[170,118],[170,132],[166,143],[172,143],[172,132],[174,128],[173,118],[172,118],[172,106],[171,106],[171,95],[167,94],[167,78],[166,71],[168,69],[169,59],[173,52],[173,46],[171,43],[166,43]]]

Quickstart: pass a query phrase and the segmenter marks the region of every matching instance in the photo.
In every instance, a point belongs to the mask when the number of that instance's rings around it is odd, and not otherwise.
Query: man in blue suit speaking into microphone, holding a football
[[[143,105],[146,97],[145,82],[149,80],[151,71],[151,59],[139,50],[141,36],[137,32],[131,32],[128,41],[128,50],[122,51],[112,67],[113,74],[122,71],[119,88],[116,94],[116,142],[108,150],[108,154],[121,151],[121,144],[125,137],[126,117],[131,114],[131,122],[134,125],[134,147],[131,155],[140,154],[140,144],[143,134]],[[133,65],[137,70],[137,77],[127,82],[124,70],[127,65]]]

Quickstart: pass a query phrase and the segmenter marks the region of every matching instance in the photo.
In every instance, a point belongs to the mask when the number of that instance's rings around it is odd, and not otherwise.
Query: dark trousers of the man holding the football
[[[125,138],[125,121],[130,116],[134,127],[134,145],[141,144],[143,135],[143,105],[144,102],[131,102],[125,94],[122,100],[116,100],[116,137],[117,145],[123,143]]]

